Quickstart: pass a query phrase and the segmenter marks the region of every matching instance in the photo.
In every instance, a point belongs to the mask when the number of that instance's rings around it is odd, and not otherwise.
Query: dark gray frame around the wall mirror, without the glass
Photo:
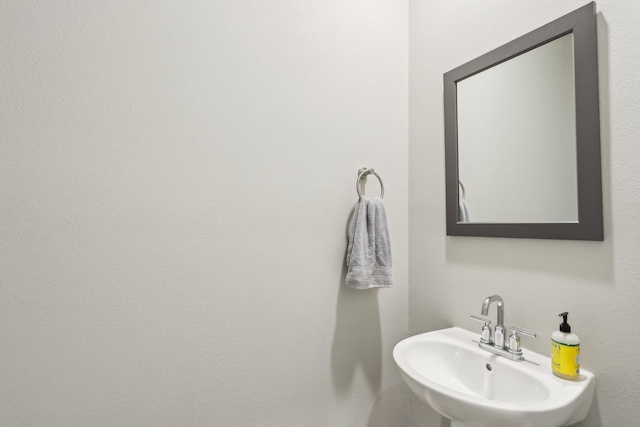
[[[444,74],[447,235],[604,240],[596,30],[596,7],[591,2]],[[569,33],[574,42],[578,221],[458,222],[457,82]]]

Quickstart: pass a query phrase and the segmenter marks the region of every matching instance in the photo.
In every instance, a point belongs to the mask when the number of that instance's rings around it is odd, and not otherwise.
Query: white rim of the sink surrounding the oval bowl
[[[416,342],[431,341],[431,342],[446,342],[457,346],[464,346],[465,350],[477,354],[482,360],[486,360],[487,363],[499,364],[507,366],[507,369],[521,370],[527,376],[532,377],[534,380],[544,386],[548,392],[548,397],[541,401],[531,401],[515,403],[504,400],[492,400],[477,396],[474,394],[467,394],[458,390],[454,390],[446,385],[440,384],[436,381],[427,378],[422,373],[418,372],[411,364],[405,359],[407,348]],[[525,361],[512,361],[507,358],[492,354],[486,350],[478,347],[478,334],[474,334],[465,329],[459,327],[451,327],[446,329],[435,330],[431,332],[425,332],[417,335],[410,336],[403,339],[393,349],[393,358],[403,372],[413,381],[422,385],[423,387],[440,393],[449,398],[454,398],[458,401],[463,401],[475,406],[476,408],[485,408],[487,410],[500,410],[508,413],[541,413],[550,412],[554,410],[562,410],[567,408],[572,403],[576,402],[580,398],[585,398],[585,391],[589,393],[586,396],[589,399],[588,406],[593,397],[593,391],[588,391],[589,388],[594,388],[595,377],[586,370],[580,370],[580,379],[577,381],[567,381],[556,377],[551,372],[551,360],[548,357],[544,357],[538,353],[523,349],[525,354]],[[530,363],[532,362],[532,363]],[[588,410],[588,407],[587,407]],[[586,414],[586,413],[585,413]]]

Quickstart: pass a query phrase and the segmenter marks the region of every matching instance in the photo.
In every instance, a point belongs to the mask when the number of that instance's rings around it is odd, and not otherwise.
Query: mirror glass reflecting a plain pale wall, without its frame
[[[460,222],[578,221],[573,35],[457,83]]]

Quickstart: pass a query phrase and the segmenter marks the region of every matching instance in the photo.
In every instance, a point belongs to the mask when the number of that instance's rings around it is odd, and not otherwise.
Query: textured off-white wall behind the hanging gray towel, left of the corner
[[[405,425],[407,8],[0,1],[0,425]]]

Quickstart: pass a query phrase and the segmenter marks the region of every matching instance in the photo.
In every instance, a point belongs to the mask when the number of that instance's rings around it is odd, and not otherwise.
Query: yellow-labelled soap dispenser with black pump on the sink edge
[[[565,380],[577,380],[580,377],[580,338],[571,333],[567,323],[569,313],[559,314],[562,323],[558,331],[551,334],[551,370]]]

